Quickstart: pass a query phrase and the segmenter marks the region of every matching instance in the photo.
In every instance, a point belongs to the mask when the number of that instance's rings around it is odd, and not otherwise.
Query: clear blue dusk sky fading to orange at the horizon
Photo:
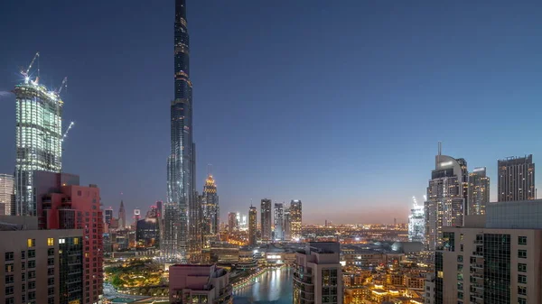
[[[305,223],[406,222],[443,152],[542,160],[540,1],[187,0],[197,188],[222,220],[301,199]],[[174,2],[9,0],[0,10],[0,172],[14,171],[18,71],[63,92],[63,170],[104,207],[166,193]],[[537,173],[537,188],[542,177]],[[122,194],[121,194],[122,193]]]

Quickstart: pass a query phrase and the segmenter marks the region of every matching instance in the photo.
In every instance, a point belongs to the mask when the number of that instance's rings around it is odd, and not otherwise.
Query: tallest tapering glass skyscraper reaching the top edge
[[[172,150],[167,160],[167,203],[162,254],[180,263],[198,254],[198,199],[195,196],[195,145],[192,141],[192,81],[185,0],[175,0],[174,99],[171,102]],[[192,237],[194,236],[194,237]]]

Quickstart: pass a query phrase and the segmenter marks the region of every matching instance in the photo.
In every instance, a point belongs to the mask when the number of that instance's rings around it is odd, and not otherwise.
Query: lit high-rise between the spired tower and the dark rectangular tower
[[[467,214],[469,216],[485,214],[485,207],[490,202],[490,178],[485,167],[474,168],[469,173]]]

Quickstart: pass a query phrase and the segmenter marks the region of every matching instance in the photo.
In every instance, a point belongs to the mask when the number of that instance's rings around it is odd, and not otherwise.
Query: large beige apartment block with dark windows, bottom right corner
[[[444,227],[428,303],[542,303],[542,199],[497,202]]]

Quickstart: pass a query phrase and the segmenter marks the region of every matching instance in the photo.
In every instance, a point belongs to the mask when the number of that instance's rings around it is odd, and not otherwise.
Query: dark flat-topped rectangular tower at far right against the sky
[[[533,155],[509,157],[497,161],[499,180],[497,183],[498,201],[535,199],[535,163]]]

